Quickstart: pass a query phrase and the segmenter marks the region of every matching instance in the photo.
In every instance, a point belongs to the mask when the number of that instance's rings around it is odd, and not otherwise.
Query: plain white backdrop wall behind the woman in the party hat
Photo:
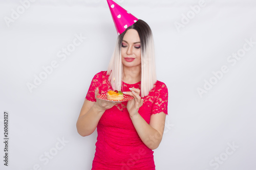
[[[76,120],[93,76],[107,69],[114,50],[109,7],[104,0],[37,0],[8,24],[5,18],[20,2],[25,0],[0,2],[0,168],[91,169],[97,133],[79,136]],[[154,153],[156,169],[255,170],[256,2],[208,0],[197,13],[191,7],[199,1],[116,2],[151,26],[158,80],[168,87],[169,115]],[[177,22],[183,27],[176,28]],[[76,34],[86,39],[62,61],[58,52]],[[242,53],[246,39],[254,44],[232,65],[227,58]],[[58,67],[30,92],[27,83],[54,60]],[[213,78],[212,71],[223,65],[228,72]],[[210,80],[215,85],[201,98],[197,89]],[[53,156],[46,161],[49,152]]]

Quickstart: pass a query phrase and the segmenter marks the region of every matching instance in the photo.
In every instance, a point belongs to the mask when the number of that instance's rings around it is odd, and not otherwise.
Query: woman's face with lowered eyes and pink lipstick
[[[121,55],[122,64],[126,67],[141,66],[140,37],[136,30],[127,30],[123,36]]]

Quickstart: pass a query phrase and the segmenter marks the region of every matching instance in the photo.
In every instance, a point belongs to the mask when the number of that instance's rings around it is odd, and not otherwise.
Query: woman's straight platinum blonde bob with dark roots
[[[123,65],[121,59],[121,46],[123,36],[127,30],[134,29],[138,32],[141,46],[141,97],[147,96],[157,81],[155,66],[155,47],[154,39],[150,26],[141,19],[128,27],[122,34],[117,37],[117,42],[113,56],[111,58],[107,75],[110,75],[109,81],[113,89],[118,91],[122,87]],[[115,79],[115,83],[114,83]],[[115,87],[114,87],[115,85]]]

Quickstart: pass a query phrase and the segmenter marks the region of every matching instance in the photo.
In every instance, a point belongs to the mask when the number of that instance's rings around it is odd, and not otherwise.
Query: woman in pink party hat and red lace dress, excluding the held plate
[[[119,25],[115,22],[120,35],[114,54],[108,71],[99,72],[92,80],[77,131],[88,136],[97,128],[92,169],[155,169],[152,150],[163,136],[168,91],[164,83],[156,80],[152,31],[143,20],[111,0],[108,3],[110,9],[119,8],[112,13],[114,21],[126,15],[131,24],[127,27],[127,19]],[[111,102],[96,97],[113,89],[134,99]]]

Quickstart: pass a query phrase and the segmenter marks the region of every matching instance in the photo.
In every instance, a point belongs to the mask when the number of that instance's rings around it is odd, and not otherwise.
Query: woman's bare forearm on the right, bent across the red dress
[[[162,134],[148,125],[139,113],[130,117],[143,143],[152,150],[156,149],[162,140]]]

